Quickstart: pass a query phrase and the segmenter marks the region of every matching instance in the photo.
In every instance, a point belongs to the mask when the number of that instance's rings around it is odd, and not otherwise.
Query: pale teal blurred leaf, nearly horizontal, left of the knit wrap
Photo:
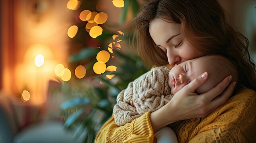
[[[88,98],[75,98],[63,102],[61,104],[61,109],[66,110],[68,108],[89,104],[89,102],[90,100]]]

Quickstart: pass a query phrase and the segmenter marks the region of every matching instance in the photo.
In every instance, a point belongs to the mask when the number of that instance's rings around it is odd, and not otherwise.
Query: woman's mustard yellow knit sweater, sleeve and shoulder
[[[125,126],[113,116],[102,126],[96,143],[156,142],[150,112]],[[256,141],[256,92],[243,89],[205,118],[184,120],[174,128],[180,143],[250,143]]]

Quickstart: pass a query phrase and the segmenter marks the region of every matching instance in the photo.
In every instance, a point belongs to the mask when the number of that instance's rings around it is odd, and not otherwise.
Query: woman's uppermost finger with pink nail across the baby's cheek
[[[195,92],[195,89],[197,89],[203,83],[205,83],[205,81],[207,80],[207,77],[208,77],[208,73],[204,72],[203,74],[201,74],[198,77],[196,77],[195,79],[193,79],[191,81],[191,83],[186,85],[184,88],[188,88],[188,89],[190,89],[190,91]]]

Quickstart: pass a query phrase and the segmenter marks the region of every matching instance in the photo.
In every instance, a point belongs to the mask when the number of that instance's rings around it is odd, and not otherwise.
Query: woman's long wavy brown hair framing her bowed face
[[[137,29],[137,50],[145,62],[160,66],[168,64],[167,56],[149,34],[149,23],[157,18],[181,24],[184,37],[205,55],[227,57],[238,69],[239,83],[256,91],[255,64],[248,52],[248,39],[229,24],[217,0],[151,0],[142,6],[132,20]]]

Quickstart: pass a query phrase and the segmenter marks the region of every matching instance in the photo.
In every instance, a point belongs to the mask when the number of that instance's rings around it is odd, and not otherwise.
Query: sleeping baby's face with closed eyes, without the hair
[[[203,72],[208,72],[211,69],[210,65],[203,58],[196,58],[174,66],[168,75],[168,85],[171,88],[171,94],[174,95]],[[213,88],[215,84],[214,78],[208,78],[203,85],[196,89],[196,93],[204,93]]]

